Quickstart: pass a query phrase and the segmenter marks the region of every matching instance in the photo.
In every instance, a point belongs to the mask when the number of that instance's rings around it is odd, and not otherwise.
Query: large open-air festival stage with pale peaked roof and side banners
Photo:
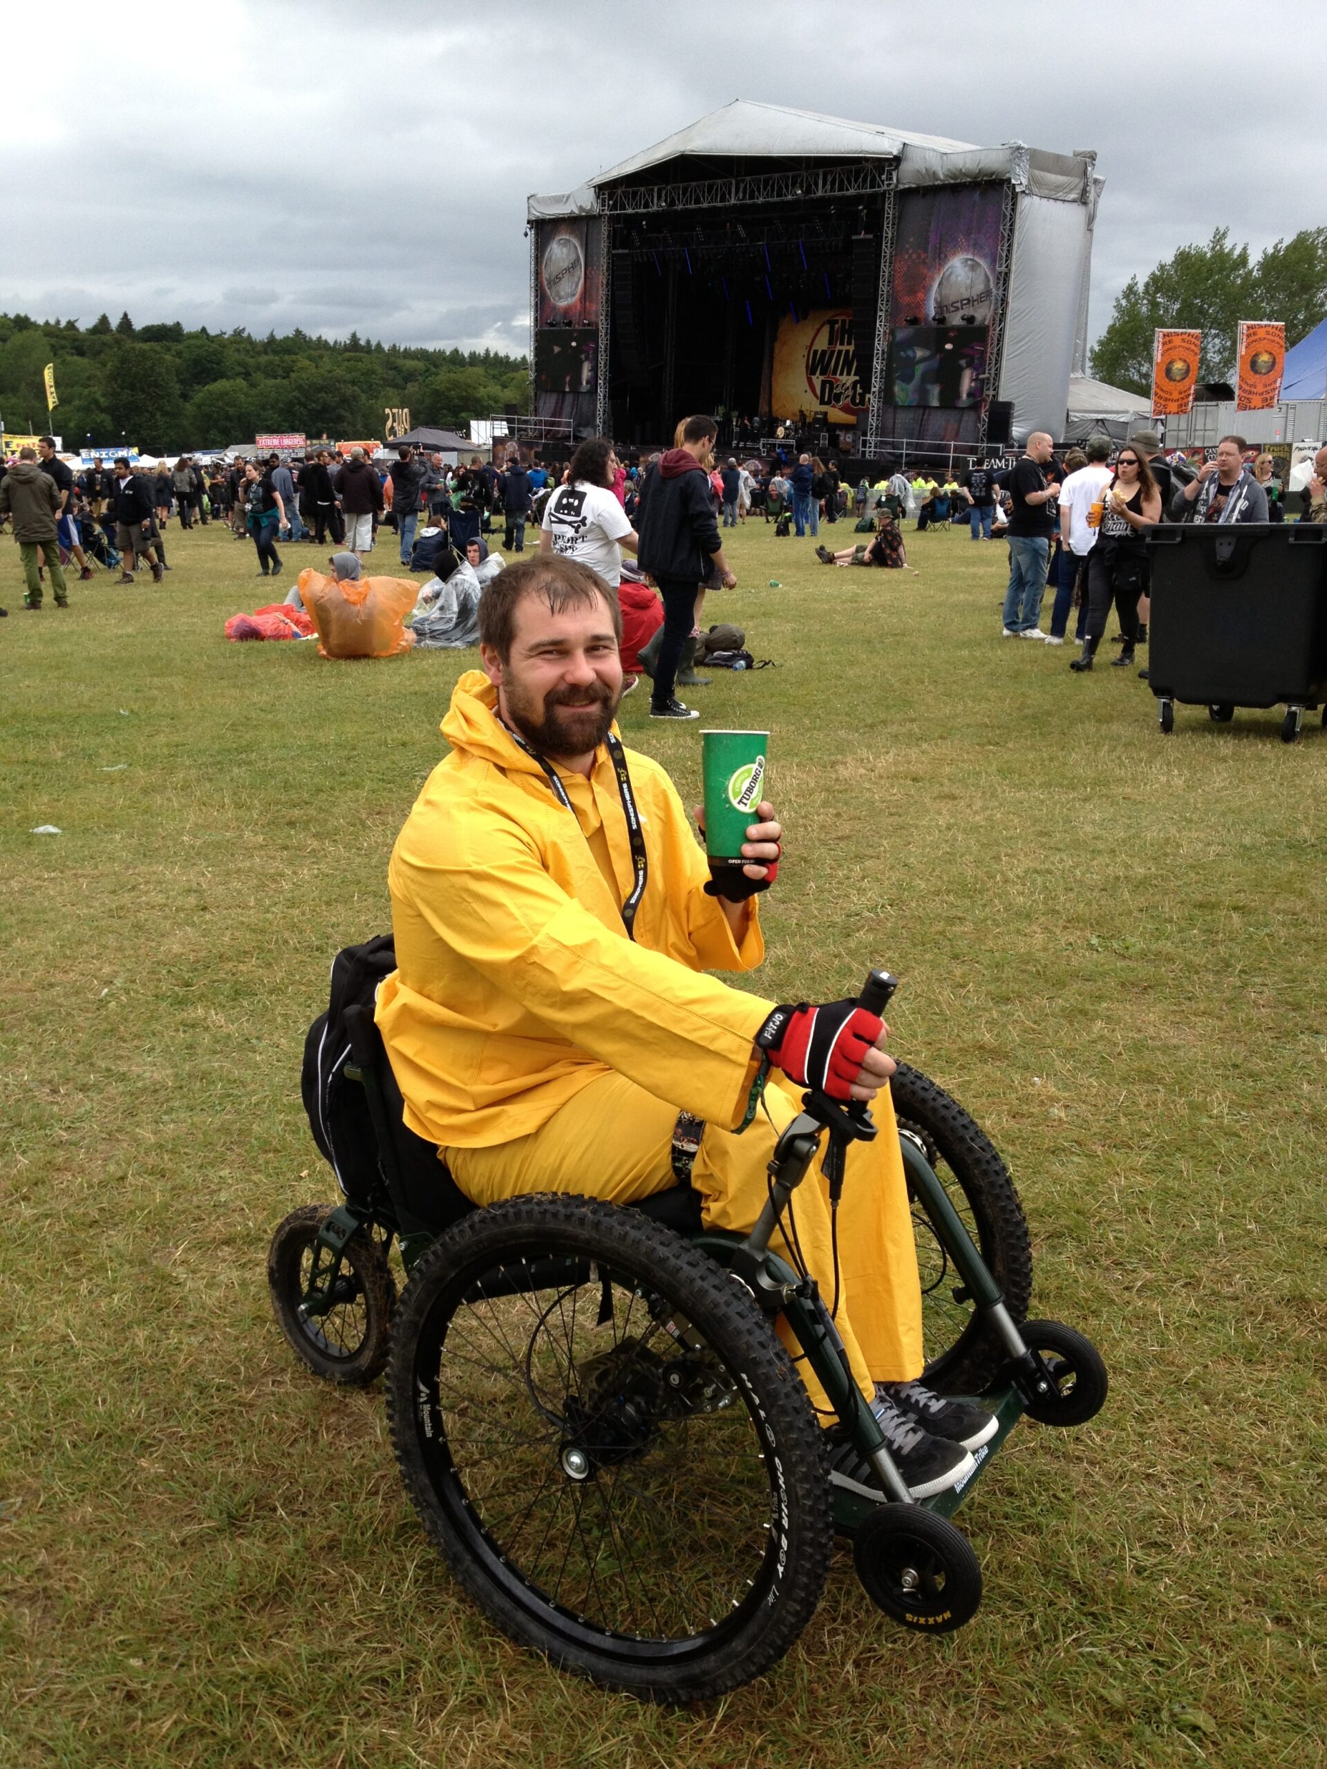
[[[534,412],[633,442],[805,412],[858,453],[1058,432],[1101,188],[1085,150],[734,101],[529,198]]]

